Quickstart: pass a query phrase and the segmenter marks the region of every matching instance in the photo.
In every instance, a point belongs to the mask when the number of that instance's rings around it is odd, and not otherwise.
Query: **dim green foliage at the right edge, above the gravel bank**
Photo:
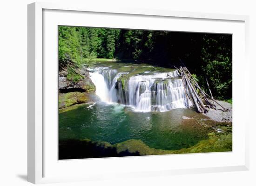
[[[203,37],[202,71],[218,99],[232,97],[232,40],[227,35]]]

